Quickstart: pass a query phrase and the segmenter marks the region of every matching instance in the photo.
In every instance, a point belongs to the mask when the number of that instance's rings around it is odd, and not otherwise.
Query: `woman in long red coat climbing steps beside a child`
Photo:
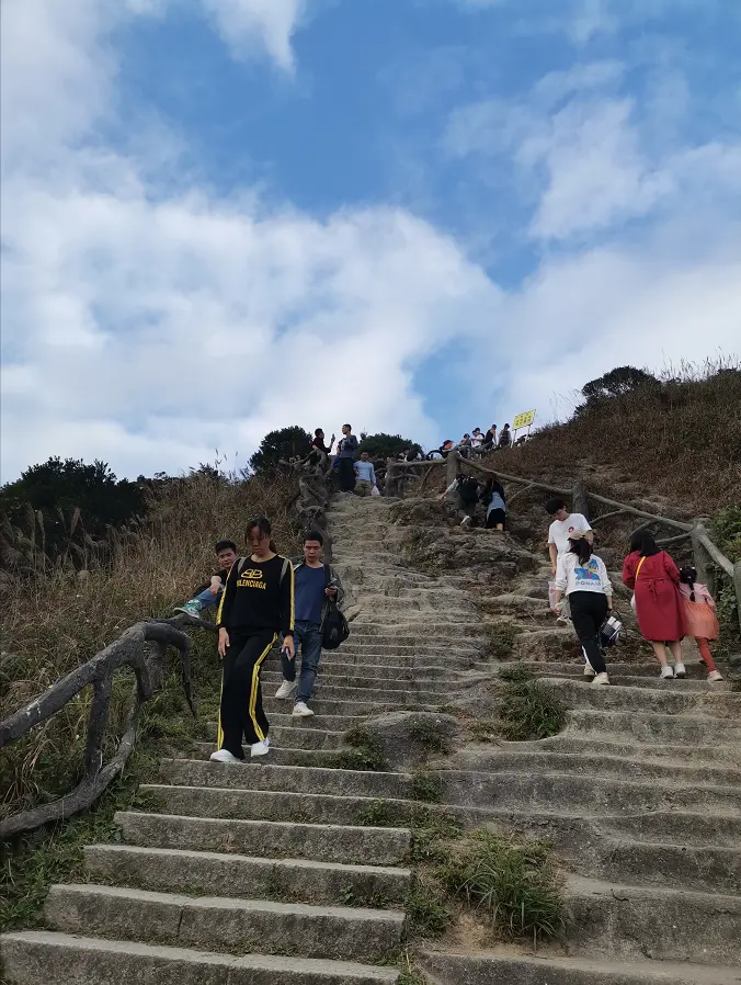
[[[685,635],[680,596],[680,569],[665,551],[657,547],[647,530],[630,537],[630,554],[623,564],[623,581],[635,591],[638,629],[653,646],[662,677],[684,677],[681,639]],[[672,652],[674,667],[666,659]]]

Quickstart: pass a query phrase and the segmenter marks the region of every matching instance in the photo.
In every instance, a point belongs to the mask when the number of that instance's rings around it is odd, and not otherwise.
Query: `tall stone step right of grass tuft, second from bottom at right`
[[[741,966],[741,897],[571,876],[569,953],[581,958]]]

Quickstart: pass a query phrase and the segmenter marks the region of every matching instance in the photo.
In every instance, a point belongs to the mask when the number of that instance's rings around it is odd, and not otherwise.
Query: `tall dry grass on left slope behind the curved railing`
[[[278,550],[296,551],[290,518],[295,490],[289,479],[259,476],[233,482],[204,474],[173,480],[150,503],[146,521],[113,534],[114,551],[105,568],[71,567],[35,577],[10,577],[3,584],[0,634],[0,717],[42,693],[90,659],[129,625],[169,615],[214,567],[214,544],[230,537],[244,543],[251,516],[265,513]],[[197,637],[202,638],[197,638]],[[196,700],[213,699],[218,663],[213,637],[196,633]],[[109,743],[123,732],[133,675],[115,681]],[[55,718],[3,750],[0,760],[0,815],[53,799],[69,790],[79,773],[89,689]],[[160,711],[175,723],[187,716],[179,699]],[[151,715],[150,715],[151,717]],[[159,729],[169,726],[160,722]],[[174,728],[173,737],[179,729]]]

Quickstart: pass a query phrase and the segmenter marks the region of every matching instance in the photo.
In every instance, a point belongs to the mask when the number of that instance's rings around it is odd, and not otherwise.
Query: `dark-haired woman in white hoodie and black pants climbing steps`
[[[559,554],[554,587],[556,613],[561,611],[566,595],[571,607],[571,621],[584,648],[589,666],[594,670],[595,684],[608,684],[607,665],[600,645],[600,630],[613,611],[613,586],[605,563],[592,554],[588,531],[575,529],[569,533],[569,550]]]

